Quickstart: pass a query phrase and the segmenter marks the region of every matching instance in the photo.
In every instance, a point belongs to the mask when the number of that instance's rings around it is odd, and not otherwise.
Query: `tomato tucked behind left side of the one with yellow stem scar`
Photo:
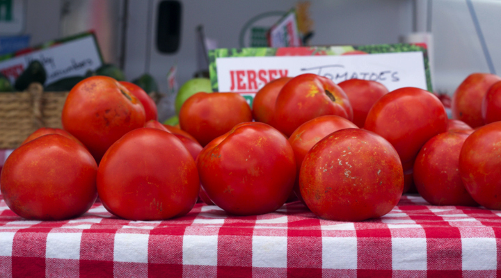
[[[280,77],[270,81],[263,88],[257,91],[253,100],[253,117],[257,122],[264,122],[273,126],[271,120],[275,114],[275,102],[278,93],[283,88],[285,83],[291,80],[292,77]]]

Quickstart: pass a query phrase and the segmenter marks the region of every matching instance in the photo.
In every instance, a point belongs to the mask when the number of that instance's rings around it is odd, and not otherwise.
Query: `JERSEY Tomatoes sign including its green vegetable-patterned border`
[[[305,73],[326,76],[334,83],[365,79],[383,83],[390,91],[403,87],[431,91],[426,48],[413,44],[215,49],[209,58],[212,89],[240,93],[250,105],[269,81]]]

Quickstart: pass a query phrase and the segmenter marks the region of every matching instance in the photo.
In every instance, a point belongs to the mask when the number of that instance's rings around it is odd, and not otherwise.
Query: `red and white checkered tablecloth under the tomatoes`
[[[19,218],[0,201],[1,277],[495,277],[501,211],[404,196],[383,218],[321,220],[300,202],[228,216],[128,221],[97,203],[80,218]]]

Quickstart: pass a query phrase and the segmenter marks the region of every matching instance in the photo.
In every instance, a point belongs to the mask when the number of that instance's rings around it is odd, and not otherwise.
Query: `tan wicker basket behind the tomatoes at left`
[[[62,128],[68,92],[44,92],[32,83],[25,92],[0,93],[0,149],[15,149],[40,127]]]

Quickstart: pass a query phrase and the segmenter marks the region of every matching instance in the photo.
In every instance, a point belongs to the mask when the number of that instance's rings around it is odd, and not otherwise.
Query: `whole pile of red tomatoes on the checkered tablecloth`
[[[414,187],[431,204],[501,209],[500,106],[493,74],[461,83],[456,120],[419,88],[302,74],[264,85],[252,109],[197,93],[177,129],[138,86],[92,76],[68,95],[63,129],[35,131],[8,157],[1,193],[38,220],[78,217],[99,195],[129,220],[179,217],[198,199],[257,215],[297,197],[321,218],[361,221]]]

